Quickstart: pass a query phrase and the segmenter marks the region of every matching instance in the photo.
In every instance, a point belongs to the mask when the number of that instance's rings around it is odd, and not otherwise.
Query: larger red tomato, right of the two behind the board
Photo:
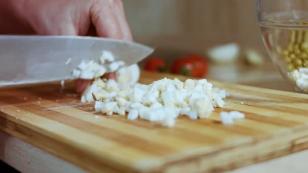
[[[204,77],[208,72],[208,64],[202,56],[190,54],[175,60],[172,63],[171,71],[181,75]]]

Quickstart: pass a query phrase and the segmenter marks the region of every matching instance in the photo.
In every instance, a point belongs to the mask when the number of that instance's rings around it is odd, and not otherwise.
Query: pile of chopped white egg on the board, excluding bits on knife
[[[172,126],[179,115],[190,119],[207,118],[215,107],[223,107],[225,90],[213,88],[206,79],[161,79],[149,85],[136,83],[120,88],[114,80],[97,80],[92,87],[95,110],[107,115],[113,112],[128,119],[138,117],[149,121],[162,121]],[[90,97],[90,96],[89,96]]]

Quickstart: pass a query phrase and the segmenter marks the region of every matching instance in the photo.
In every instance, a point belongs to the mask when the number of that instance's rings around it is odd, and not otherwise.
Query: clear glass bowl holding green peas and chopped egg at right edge
[[[255,0],[272,62],[298,93],[308,94],[308,0]]]

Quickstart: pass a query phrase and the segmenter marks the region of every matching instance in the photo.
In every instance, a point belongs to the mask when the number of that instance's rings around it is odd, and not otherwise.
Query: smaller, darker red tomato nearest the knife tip
[[[146,71],[166,72],[167,63],[162,58],[152,57],[145,62],[144,69]]]

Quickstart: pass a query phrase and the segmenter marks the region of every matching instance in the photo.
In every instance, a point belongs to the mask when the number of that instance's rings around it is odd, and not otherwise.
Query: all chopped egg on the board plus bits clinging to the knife
[[[108,116],[128,113],[129,120],[159,121],[168,127],[174,126],[180,115],[193,120],[208,118],[214,108],[225,104],[223,99],[228,95],[225,90],[214,88],[206,79],[180,81],[165,77],[146,85],[137,82],[140,75],[137,64],[124,65],[122,61],[114,61],[113,55],[106,51],[102,53],[100,64],[82,61],[72,71],[73,77],[93,81],[82,94],[81,102],[95,102],[95,111]],[[104,73],[117,70],[122,71],[120,80],[101,78]],[[221,119],[225,121],[224,116]]]

